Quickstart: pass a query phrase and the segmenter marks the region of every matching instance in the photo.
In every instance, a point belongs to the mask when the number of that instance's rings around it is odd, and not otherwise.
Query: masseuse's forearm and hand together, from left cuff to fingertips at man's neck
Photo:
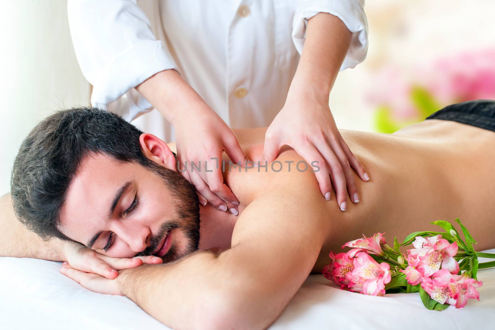
[[[239,200],[223,182],[221,163],[223,151],[234,163],[248,162],[234,132],[175,70],[161,71],[136,89],[174,126],[178,170],[196,187],[199,202],[238,214]],[[201,162],[200,171],[193,162]]]

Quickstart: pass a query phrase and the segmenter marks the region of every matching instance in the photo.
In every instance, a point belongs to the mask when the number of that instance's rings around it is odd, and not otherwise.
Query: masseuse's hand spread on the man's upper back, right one
[[[308,170],[315,171],[321,193],[327,200],[330,200],[333,182],[341,210],[347,208],[347,192],[352,202],[359,201],[352,169],[363,181],[369,177],[337,129],[328,94],[319,95],[304,88],[289,92],[284,107],[266,131],[263,164],[274,161],[284,144],[304,158]],[[316,166],[312,167],[312,163]]]

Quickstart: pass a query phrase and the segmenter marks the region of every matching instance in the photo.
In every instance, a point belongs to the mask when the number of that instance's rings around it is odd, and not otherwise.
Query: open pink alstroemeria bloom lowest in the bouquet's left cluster
[[[385,284],[391,280],[390,265],[378,264],[369,254],[359,252],[354,257],[354,270],[347,273],[349,290],[369,295],[384,295]]]

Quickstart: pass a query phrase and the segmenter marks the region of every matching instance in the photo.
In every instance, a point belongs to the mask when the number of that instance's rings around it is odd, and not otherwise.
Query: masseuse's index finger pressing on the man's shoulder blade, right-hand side
[[[292,146],[292,145],[291,145]],[[313,170],[320,186],[320,191],[326,200],[330,200],[332,182],[325,159],[309,141],[299,141],[292,146],[294,150],[308,163],[308,170]]]

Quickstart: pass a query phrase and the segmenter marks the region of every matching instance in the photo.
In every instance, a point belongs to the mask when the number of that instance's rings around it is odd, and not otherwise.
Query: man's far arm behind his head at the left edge
[[[0,256],[64,260],[64,242],[56,238],[45,241],[24,227],[15,217],[10,194],[0,198],[0,228]]]

